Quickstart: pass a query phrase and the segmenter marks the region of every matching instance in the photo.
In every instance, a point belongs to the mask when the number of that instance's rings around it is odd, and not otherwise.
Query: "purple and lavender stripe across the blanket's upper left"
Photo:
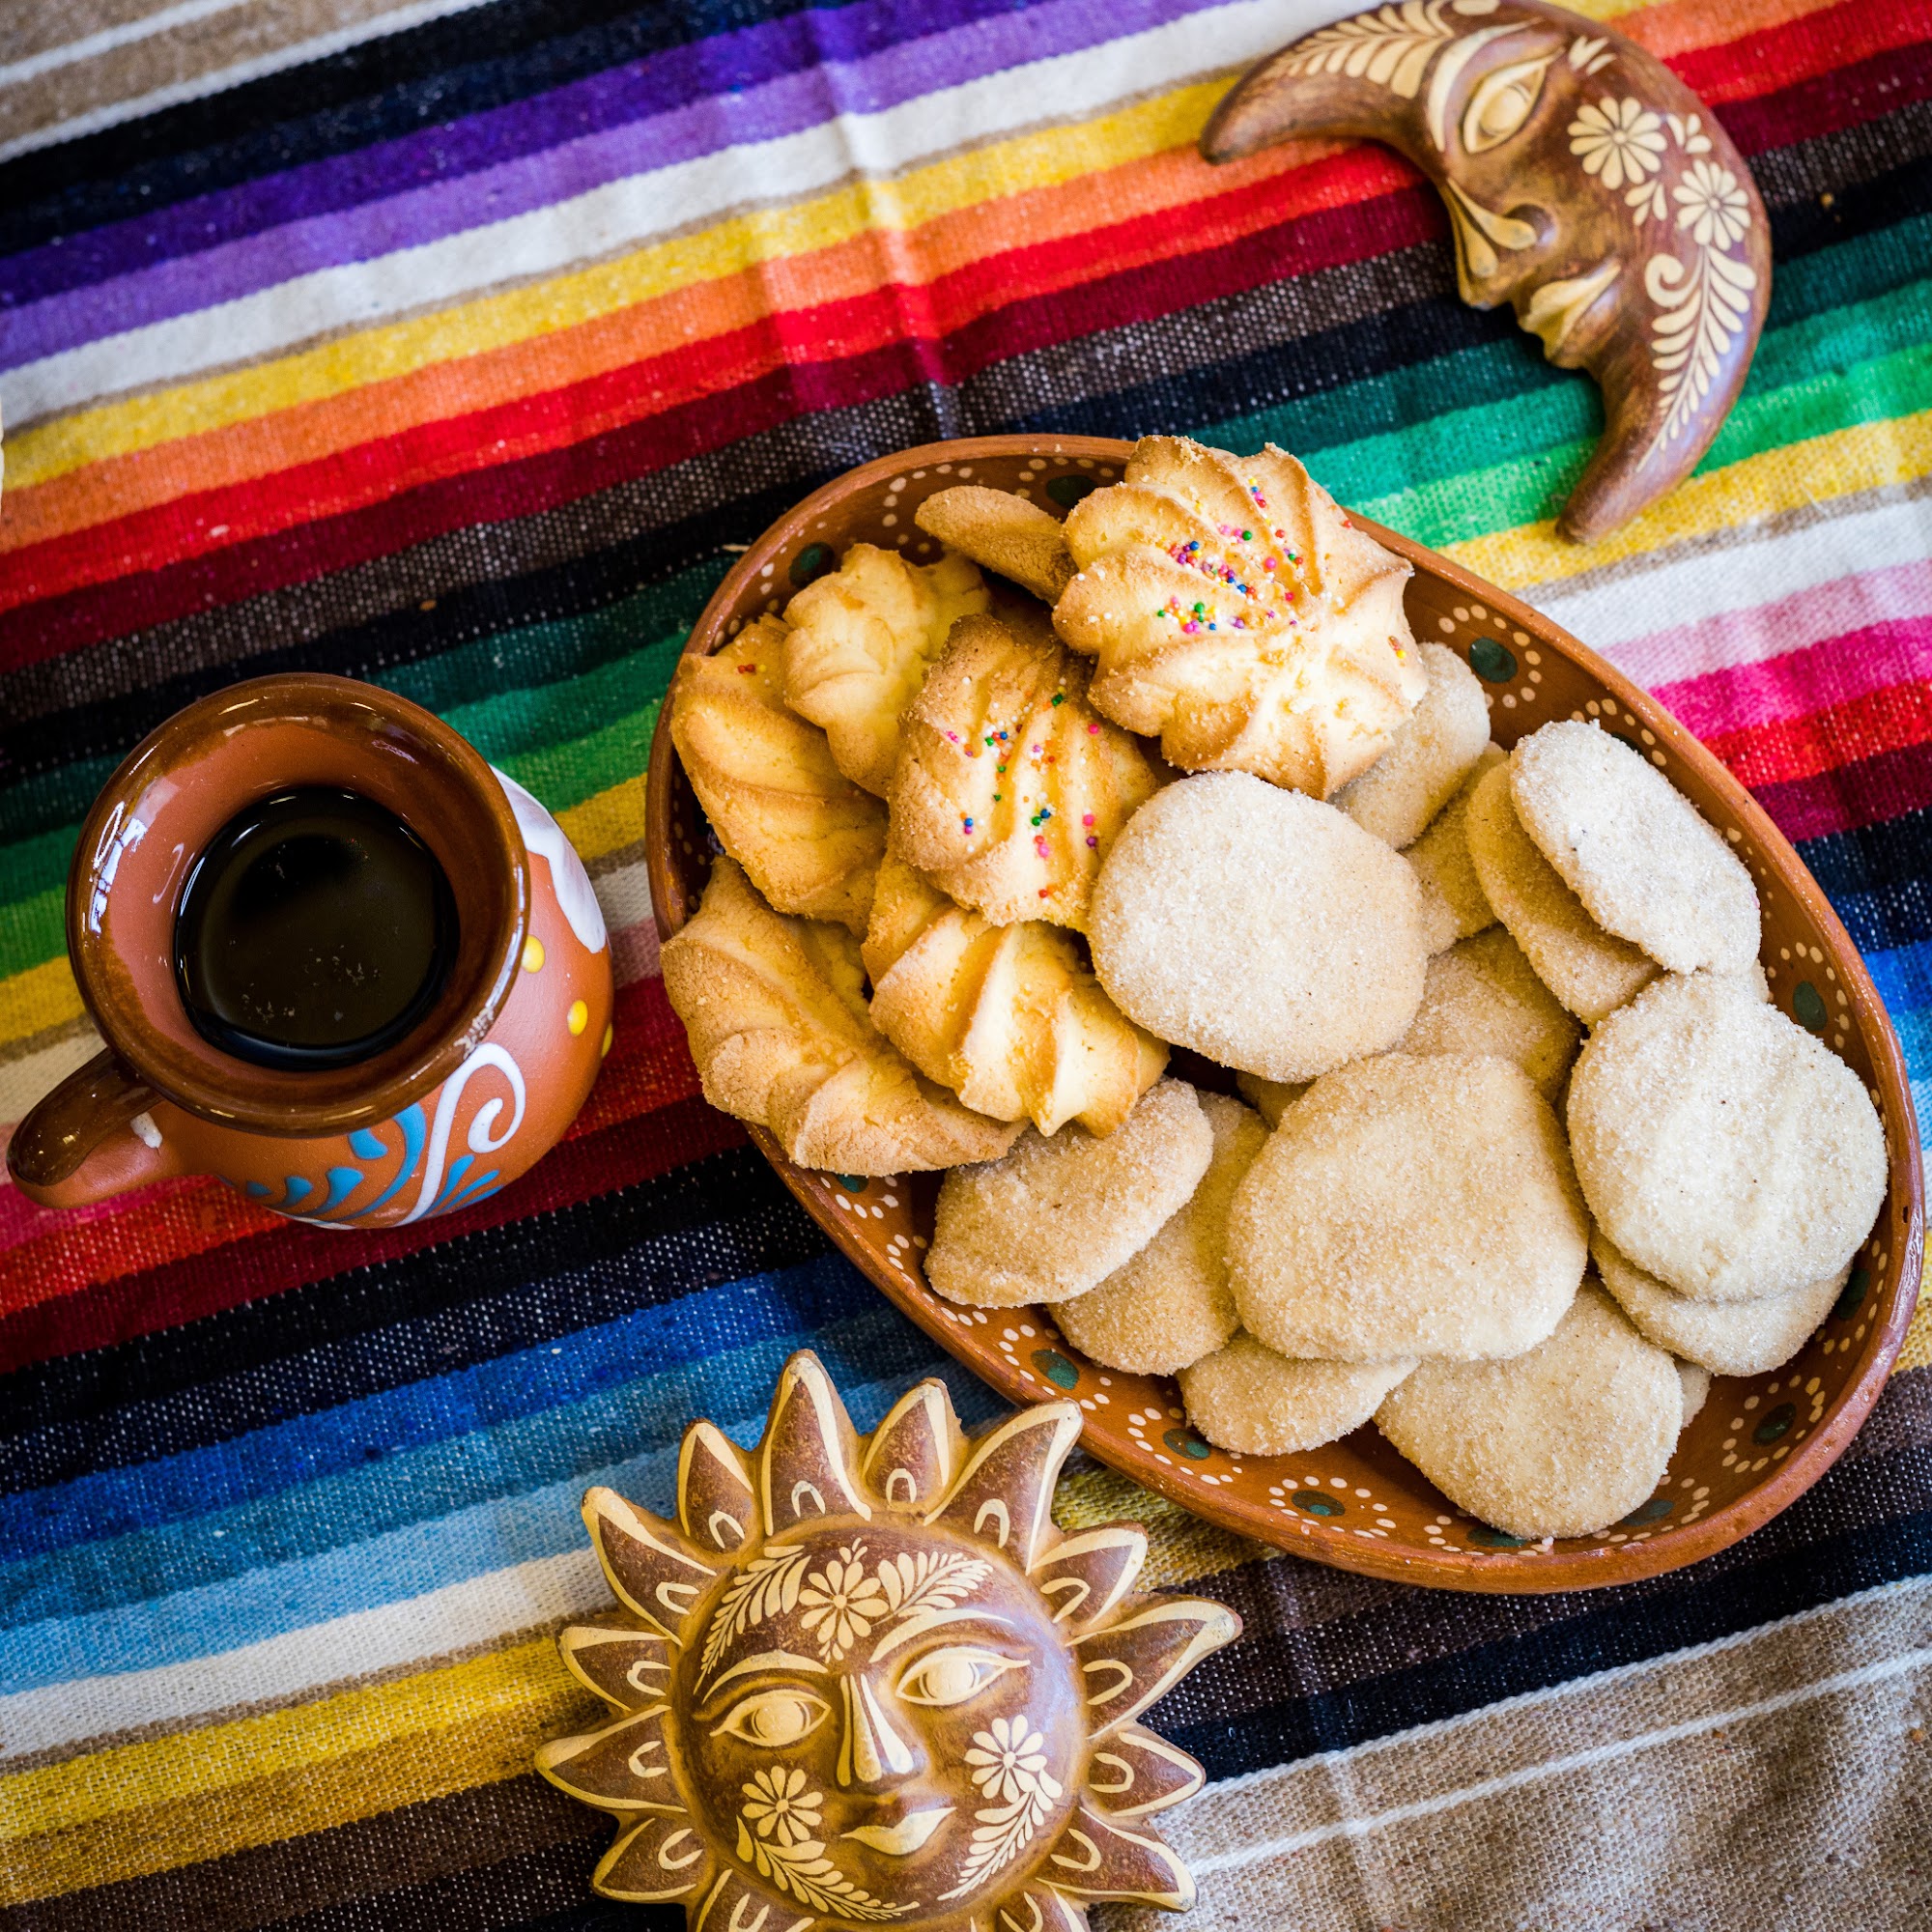
[[[860,0],[719,35],[450,128],[19,255],[6,265],[0,294],[14,305],[0,313],[0,369],[1215,4],[1041,0],[1016,10],[1012,0]],[[991,17],[958,25],[962,14]],[[902,39],[885,41],[887,27]],[[852,52],[881,41],[875,52]]]

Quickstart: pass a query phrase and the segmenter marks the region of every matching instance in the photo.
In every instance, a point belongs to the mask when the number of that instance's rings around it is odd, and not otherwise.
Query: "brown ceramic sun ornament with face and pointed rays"
[[[618,1822],[595,1888],[692,1932],[1082,1932],[1095,1899],[1180,1909],[1150,1816],[1200,1766],[1134,1719],[1240,1621],[1130,1596],[1138,1524],[1063,1534],[1072,1403],[968,1441],[922,1381],[854,1434],[813,1354],[763,1441],[684,1434],[678,1520],[591,1490],[620,1607],[564,1631],[618,1716],[537,1770]]]

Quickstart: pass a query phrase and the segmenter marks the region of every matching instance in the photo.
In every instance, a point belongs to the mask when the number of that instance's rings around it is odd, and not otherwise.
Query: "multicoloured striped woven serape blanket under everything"
[[[1932,1080],[1932,8],[1582,0],[1750,160],[1776,292],[1702,469],[1553,508],[1600,415],[1455,298],[1376,147],[1194,153],[1323,0],[8,0],[0,1122],[93,1049],[75,825],[278,668],[429,705],[597,879],[616,1047],[570,1140],[388,1235],[214,1182],[0,1188],[0,1922],[670,1926],[529,1770],[589,1716],[576,1499],[668,1503],[815,1347],[935,1354],[697,1095],[645,752],[730,547],[980,431],[1273,439],[1656,690],[1799,842]],[[1694,1569],[1464,1598],[1219,1534],[1095,1464],[1242,1642],[1153,1714],[1194,1932],[1932,1924],[1932,1327],[1839,1466]],[[1167,1922],[1103,1907],[1121,1928]]]

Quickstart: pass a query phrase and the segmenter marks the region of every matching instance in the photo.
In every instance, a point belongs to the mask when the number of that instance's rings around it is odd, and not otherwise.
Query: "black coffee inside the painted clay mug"
[[[456,958],[456,896],[386,806],[305,784],[238,811],[174,916],[174,980],[203,1039],[259,1066],[330,1068],[406,1037]]]

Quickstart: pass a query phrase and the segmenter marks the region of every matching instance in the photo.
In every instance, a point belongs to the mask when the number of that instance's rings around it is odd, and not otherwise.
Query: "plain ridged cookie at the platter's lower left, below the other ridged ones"
[[[923,1080],[871,1024],[858,941],[773,912],[732,860],[663,960],[705,1099],[769,1128],[800,1167],[893,1175],[1012,1144],[1018,1128]]]

